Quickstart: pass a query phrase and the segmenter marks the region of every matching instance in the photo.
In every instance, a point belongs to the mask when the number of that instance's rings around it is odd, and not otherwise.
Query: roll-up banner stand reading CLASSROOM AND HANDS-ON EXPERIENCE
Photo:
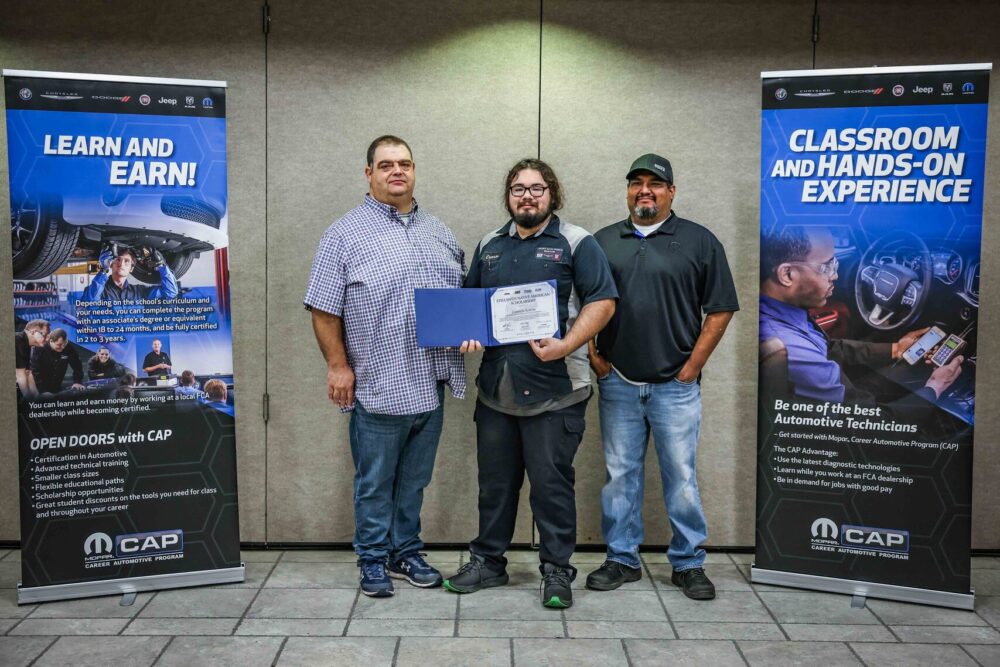
[[[990,69],[762,75],[754,582],[973,607]]]

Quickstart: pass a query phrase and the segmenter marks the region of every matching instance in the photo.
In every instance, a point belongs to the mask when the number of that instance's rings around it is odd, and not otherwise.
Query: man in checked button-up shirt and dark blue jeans
[[[305,306],[327,363],[327,391],[351,413],[354,549],[365,595],[393,594],[390,577],[441,584],[423,559],[420,508],[441,435],[444,385],[465,397],[457,350],[417,346],[413,290],[461,287],[465,254],[413,199],[410,147],[368,147],[364,202],[326,230]]]

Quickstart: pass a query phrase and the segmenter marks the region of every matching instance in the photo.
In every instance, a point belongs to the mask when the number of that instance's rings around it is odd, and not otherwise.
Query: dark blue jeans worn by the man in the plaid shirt
[[[377,415],[355,401],[351,413],[354,458],[354,551],[358,562],[420,551],[420,508],[434,472],[444,421],[437,409],[415,415]]]

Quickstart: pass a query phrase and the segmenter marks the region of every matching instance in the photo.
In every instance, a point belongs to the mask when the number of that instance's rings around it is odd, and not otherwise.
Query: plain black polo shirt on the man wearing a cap
[[[620,294],[597,347],[629,380],[673,379],[694,350],[702,313],[740,309],[725,249],[695,222],[671,211],[649,236],[625,219],[594,237]]]

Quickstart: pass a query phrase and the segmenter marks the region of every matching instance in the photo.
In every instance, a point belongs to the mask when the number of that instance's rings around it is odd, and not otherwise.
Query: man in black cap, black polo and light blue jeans
[[[676,192],[670,163],[643,155],[626,180],[629,217],[595,235],[620,303],[596,345],[589,345],[608,470],[601,492],[608,552],[587,587],[612,590],[642,576],[643,467],[652,431],[673,529],[670,580],[689,598],[710,600],[715,587],[705,576],[701,548],[708,527],[695,474],[699,378],[739,303],[722,244],[670,208]]]

